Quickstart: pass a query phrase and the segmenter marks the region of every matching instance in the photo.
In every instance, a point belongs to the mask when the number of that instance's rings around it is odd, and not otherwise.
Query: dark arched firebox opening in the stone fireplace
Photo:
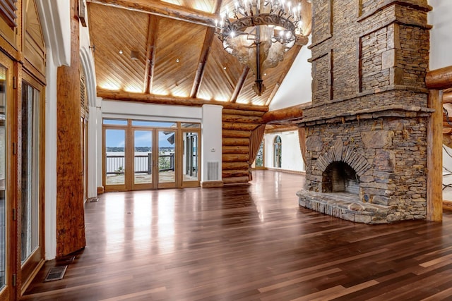
[[[350,192],[359,194],[356,171],[343,161],[334,161],[322,174],[322,192]]]

